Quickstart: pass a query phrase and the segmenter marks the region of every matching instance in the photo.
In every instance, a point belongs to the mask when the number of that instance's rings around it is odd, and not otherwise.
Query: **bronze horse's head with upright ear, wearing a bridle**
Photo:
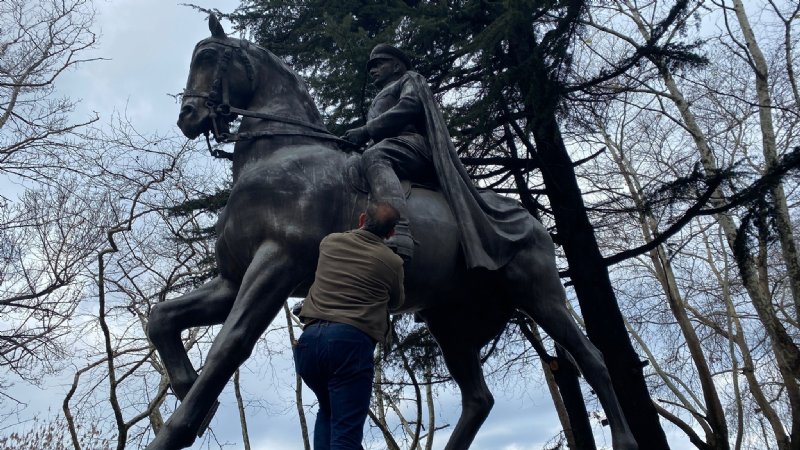
[[[213,14],[208,17],[211,37],[198,42],[192,53],[189,78],[181,101],[178,127],[194,139],[214,132],[227,133],[236,114],[230,106],[246,108],[256,89],[257,74],[244,40],[228,37]]]

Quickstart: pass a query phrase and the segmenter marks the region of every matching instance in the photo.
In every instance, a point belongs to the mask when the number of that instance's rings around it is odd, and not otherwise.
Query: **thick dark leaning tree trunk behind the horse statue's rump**
[[[532,29],[519,26],[513,31],[508,56],[517,66],[526,69],[527,77],[517,78],[515,83],[536,144],[558,242],[569,263],[586,332],[605,357],[620,406],[639,446],[651,450],[669,449],[558,127],[556,111],[561,100],[560,84],[553,78],[557,75],[546,67],[547,60],[541,54],[543,50],[536,46]]]

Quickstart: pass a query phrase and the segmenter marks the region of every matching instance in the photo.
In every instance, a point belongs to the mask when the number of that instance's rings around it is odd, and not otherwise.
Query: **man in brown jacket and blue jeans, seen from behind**
[[[387,340],[389,309],[404,300],[403,260],[384,244],[398,218],[392,205],[370,203],[360,228],[320,243],[294,348],[297,373],[319,401],[314,450],[361,449],[375,344]]]

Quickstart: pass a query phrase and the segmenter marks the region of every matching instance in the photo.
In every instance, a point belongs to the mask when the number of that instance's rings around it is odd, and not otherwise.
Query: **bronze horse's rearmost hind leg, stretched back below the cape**
[[[603,355],[584,336],[566,308],[566,295],[558,277],[553,244],[546,235],[506,266],[505,274],[515,306],[530,316],[569,352],[586,381],[594,389],[611,426],[615,450],[637,450]]]

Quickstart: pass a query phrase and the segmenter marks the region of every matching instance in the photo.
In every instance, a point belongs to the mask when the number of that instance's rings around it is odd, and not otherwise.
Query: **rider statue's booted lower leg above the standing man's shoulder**
[[[386,241],[403,261],[409,262],[414,257],[414,238],[408,222],[408,206],[400,180],[389,164],[372,164],[366,169],[372,198],[392,205],[400,215],[394,227],[394,235]]]

